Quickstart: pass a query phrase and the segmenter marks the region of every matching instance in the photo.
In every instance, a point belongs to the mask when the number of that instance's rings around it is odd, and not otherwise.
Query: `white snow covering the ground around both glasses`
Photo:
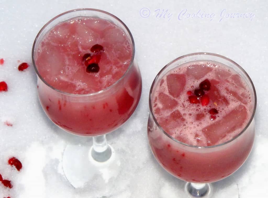
[[[64,132],[43,112],[36,91],[31,49],[35,36],[47,21],[62,12],[87,7],[116,15],[130,29],[143,91],[132,117],[107,135],[108,143],[118,154],[120,171],[111,173],[111,177],[106,171],[107,177],[95,175],[83,187],[73,188],[62,170],[62,153],[66,145],[90,147],[92,140]],[[142,12],[143,8],[149,9],[150,15],[148,10]],[[165,18],[157,9],[168,10]],[[151,153],[147,140],[148,96],[151,83],[162,67],[193,52],[218,53],[240,64],[254,82],[258,98],[252,152],[238,171],[213,183],[212,196],[266,197],[267,9],[265,1],[25,0],[18,3],[1,0],[0,59],[3,58],[4,63],[0,64],[0,81],[6,81],[8,92],[0,92],[0,174],[12,181],[13,188],[0,185],[0,197],[186,197],[185,182],[166,172]],[[201,14],[209,13],[210,17],[187,18],[187,13],[196,14],[199,10]],[[227,13],[254,15],[231,18]],[[18,71],[17,60],[29,63],[29,68]],[[13,126],[5,125],[5,121]],[[8,165],[12,156],[23,164],[20,172]]]

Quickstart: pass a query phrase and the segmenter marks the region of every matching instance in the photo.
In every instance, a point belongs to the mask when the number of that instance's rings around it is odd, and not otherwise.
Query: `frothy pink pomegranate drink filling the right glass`
[[[228,142],[250,122],[253,98],[243,77],[219,62],[191,61],[169,70],[151,94],[152,112],[167,134],[151,115],[148,138],[155,158],[185,181],[214,182],[232,174],[253,146],[254,122]]]

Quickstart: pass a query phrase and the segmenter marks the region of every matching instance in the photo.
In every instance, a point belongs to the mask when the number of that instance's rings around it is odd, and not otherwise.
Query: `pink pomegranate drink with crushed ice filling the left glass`
[[[131,39],[111,21],[75,17],[52,27],[34,56],[40,76],[60,91],[38,78],[47,116],[77,135],[103,135],[120,127],[141,94],[140,71],[132,56]]]

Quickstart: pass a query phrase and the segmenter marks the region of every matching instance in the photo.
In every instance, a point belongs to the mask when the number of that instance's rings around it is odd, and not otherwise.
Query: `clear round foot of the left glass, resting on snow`
[[[94,177],[102,177],[105,183],[119,173],[120,160],[113,148],[109,148],[104,158],[99,158],[92,147],[83,145],[67,145],[63,157],[62,168],[66,179],[74,188],[83,188],[94,181]],[[92,153],[92,154],[91,154]],[[96,161],[93,159],[97,157]],[[110,158],[109,158],[110,156]],[[108,160],[106,160],[109,158]]]

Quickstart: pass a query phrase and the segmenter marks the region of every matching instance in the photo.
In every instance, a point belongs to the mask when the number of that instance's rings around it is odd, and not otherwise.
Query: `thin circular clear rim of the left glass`
[[[57,19],[58,17],[60,16],[63,16],[65,14],[68,14],[68,13],[71,13],[71,12],[76,12],[76,11],[83,11],[83,10],[90,10],[90,11],[96,11],[96,12],[101,12],[101,13],[104,13],[106,15],[109,15],[111,17],[113,17],[114,19],[116,19],[117,21],[119,21],[120,24],[122,24],[124,26],[124,28],[126,29],[126,33],[129,34],[130,36],[130,39],[131,39],[131,42],[132,42],[132,58],[131,58],[131,61],[129,63],[129,66],[128,66],[128,69],[125,71],[125,73],[116,81],[114,82],[112,85],[110,85],[109,87],[106,87],[105,89],[102,89],[98,92],[94,92],[94,93],[88,93],[88,94],[74,94],[74,93],[68,93],[68,92],[63,92],[59,89],[56,89],[54,88],[53,86],[51,86],[48,82],[46,82],[44,80],[44,78],[40,75],[37,67],[36,67],[36,64],[35,64],[35,60],[34,60],[34,52],[35,52],[35,47],[36,47],[36,42],[37,42],[37,39],[39,38],[39,36],[41,35],[41,33],[43,32],[43,30],[52,22],[54,21],[55,19]],[[125,76],[126,74],[128,73],[129,69],[131,68],[131,66],[133,65],[133,62],[134,62],[134,56],[135,56],[135,43],[134,43],[134,39],[133,39],[133,36],[129,30],[129,28],[126,26],[126,24],[121,21],[118,17],[114,16],[113,14],[109,13],[109,12],[106,12],[106,11],[103,11],[103,10],[99,10],[99,9],[93,9],[93,8],[79,8],[79,9],[73,9],[73,10],[69,10],[69,11],[66,11],[66,12],[63,12],[55,17],[53,17],[51,20],[49,20],[42,28],[41,30],[38,32],[38,34],[36,35],[35,37],[35,40],[33,42],[33,46],[32,46],[32,63],[33,63],[33,67],[35,69],[35,73],[38,75],[38,77],[44,82],[44,84],[46,84],[48,87],[50,87],[51,89],[61,93],[61,94],[64,94],[64,95],[68,95],[68,96],[93,96],[93,95],[97,95],[97,94],[100,94],[100,93],[104,93],[108,90],[110,90],[112,87],[114,87],[116,84],[118,84]]]

